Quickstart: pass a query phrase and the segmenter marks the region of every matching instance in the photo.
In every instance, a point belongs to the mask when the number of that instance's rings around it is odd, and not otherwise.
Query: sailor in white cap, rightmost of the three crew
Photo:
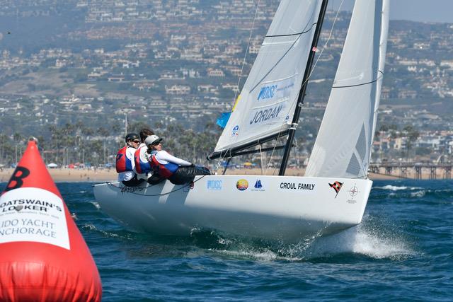
[[[184,185],[193,182],[195,175],[210,175],[207,168],[197,167],[162,150],[161,141],[157,135],[150,135],[144,141],[150,154],[149,164],[154,174],[159,175],[161,179],[168,179],[174,185]]]

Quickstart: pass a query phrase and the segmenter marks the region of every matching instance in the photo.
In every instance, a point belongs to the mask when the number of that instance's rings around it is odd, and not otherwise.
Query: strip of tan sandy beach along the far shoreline
[[[116,181],[117,173],[115,169],[69,169],[69,168],[57,168],[47,169],[55,182],[107,182]],[[0,182],[8,182],[13,174],[13,168],[4,168],[0,170]],[[223,170],[217,171],[218,175],[221,175]],[[396,172],[396,171],[395,171]],[[267,175],[277,175],[278,170],[268,170]],[[287,176],[303,176],[305,170],[303,168],[288,168],[286,171]],[[226,175],[261,175],[261,169],[234,169],[226,170]],[[408,176],[411,176],[408,173]],[[391,175],[381,173],[369,173],[370,180],[415,180],[415,178],[401,178],[397,173]],[[422,174],[422,180],[429,180],[430,173],[426,172]],[[437,174],[437,180],[444,179],[441,173]]]

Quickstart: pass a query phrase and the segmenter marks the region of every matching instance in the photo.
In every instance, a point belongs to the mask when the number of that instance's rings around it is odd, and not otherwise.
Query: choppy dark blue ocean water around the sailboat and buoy
[[[1,188],[5,184],[1,184]],[[375,181],[362,223],[285,245],[131,233],[91,183],[59,183],[103,301],[453,301],[453,181]]]

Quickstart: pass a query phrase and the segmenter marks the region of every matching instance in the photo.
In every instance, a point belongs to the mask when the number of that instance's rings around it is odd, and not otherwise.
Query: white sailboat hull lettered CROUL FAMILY
[[[336,181],[343,183],[338,194],[330,185]],[[188,235],[207,228],[297,242],[360,223],[371,187],[371,180],[209,175],[197,177],[193,189],[111,182],[95,185],[94,194],[106,214],[133,231]]]

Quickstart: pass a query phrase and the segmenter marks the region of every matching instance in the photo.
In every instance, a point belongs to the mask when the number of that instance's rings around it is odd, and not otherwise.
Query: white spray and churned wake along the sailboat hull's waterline
[[[212,248],[212,252],[260,261],[328,261],[352,257],[371,257],[374,259],[407,259],[415,255],[411,244],[401,233],[391,226],[376,223],[368,218],[359,226],[331,236],[311,236],[297,244],[265,243],[260,240],[223,238],[224,248]],[[350,258],[350,257],[348,257]]]

